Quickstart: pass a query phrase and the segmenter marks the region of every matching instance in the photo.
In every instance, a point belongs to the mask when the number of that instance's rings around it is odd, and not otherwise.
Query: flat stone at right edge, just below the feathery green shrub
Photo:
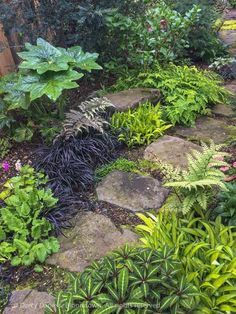
[[[223,144],[235,137],[236,128],[228,127],[227,122],[201,117],[196,122],[196,127],[176,127],[173,129],[175,135],[190,141],[203,141],[209,143],[211,140],[216,144]]]

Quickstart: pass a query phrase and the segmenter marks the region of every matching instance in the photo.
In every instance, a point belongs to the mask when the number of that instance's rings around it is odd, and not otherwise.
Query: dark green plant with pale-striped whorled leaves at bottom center
[[[187,313],[197,296],[172,250],[125,246],[74,276],[46,313]]]

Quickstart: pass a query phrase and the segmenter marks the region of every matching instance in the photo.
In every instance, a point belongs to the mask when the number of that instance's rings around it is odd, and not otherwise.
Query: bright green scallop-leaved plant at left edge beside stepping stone
[[[29,266],[43,263],[58,251],[59,243],[50,235],[53,226],[42,217],[43,210],[57,203],[51,190],[43,188],[46,182],[42,173],[24,166],[19,176],[5,185],[1,195],[5,206],[0,209],[0,263]]]

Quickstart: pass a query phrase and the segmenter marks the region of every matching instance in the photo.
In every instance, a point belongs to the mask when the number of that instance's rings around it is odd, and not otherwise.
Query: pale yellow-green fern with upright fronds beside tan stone
[[[192,208],[199,213],[206,211],[214,188],[227,190],[224,174],[219,167],[227,165],[222,159],[228,154],[220,152],[221,148],[221,145],[213,142],[210,146],[203,143],[201,152],[194,150],[188,156],[188,170],[182,171],[182,179],[165,184],[174,188],[174,207],[181,208],[184,214]]]

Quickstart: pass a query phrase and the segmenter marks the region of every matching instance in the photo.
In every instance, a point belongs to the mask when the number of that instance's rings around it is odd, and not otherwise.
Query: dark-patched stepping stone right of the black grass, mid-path
[[[159,180],[122,171],[111,172],[98,184],[96,191],[99,201],[134,212],[159,209],[169,193]]]

